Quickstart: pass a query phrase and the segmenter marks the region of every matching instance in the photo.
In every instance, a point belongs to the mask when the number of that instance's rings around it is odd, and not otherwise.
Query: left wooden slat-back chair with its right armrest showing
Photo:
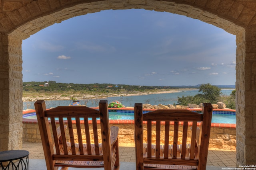
[[[99,110],[86,106],[58,106],[46,110],[43,100],[34,105],[47,170],[58,167],[62,170],[68,167],[119,169],[118,127],[109,127],[107,100],[100,100]],[[97,122],[100,125],[97,126]],[[98,142],[100,138],[102,144]]]

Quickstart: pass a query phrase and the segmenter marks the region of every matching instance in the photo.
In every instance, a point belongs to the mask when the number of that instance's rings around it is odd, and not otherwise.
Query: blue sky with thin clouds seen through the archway
[[[168,12],[105,10],[31,35],[22,60],[24,82],[235,85],[236,36]]]

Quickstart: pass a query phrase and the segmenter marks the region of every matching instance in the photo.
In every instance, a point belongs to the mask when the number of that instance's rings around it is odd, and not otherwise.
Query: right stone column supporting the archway
[[[236,160],[256,163],[256,26],[236,35]]]

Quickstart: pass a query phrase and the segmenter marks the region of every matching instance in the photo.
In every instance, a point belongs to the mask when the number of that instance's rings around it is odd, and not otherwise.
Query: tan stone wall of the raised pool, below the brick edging
[[[215,125],[213,123],[212,125]],[[218,125],[224,125],[219,124]],[[100,126],[100,124],[98,124]],[[119,142],[120,143],[134,143],[134,123],[127,124],[110,124],[110,126],[119,127]],[[172,128],[173,126],[171,126]],[[73,125],[73,128],[76,129],[76,125]],[[92,127],[90,127],[92,129]],[[146,133],[146,125],[144,125],[144,133]],[[164,129],[164,125],[161,127]],[[68,131],[68,130],[67,130]],[[182,127],[179,126],[179,131],[182,132]],[[76,133],[76,132],[74,132]],[[98,132],[100,133],[100,132]],[[188,133],[188,135],[191,135]],[[101,139],[99,139],[100,141]],[[179,140],[181,137],[179,136]],[[23,142],[41,142],[40,132],[38,129],[38,124],[36,121],[34,123],[23,123]],[[162,143],[164,141],[161,141]],[[154,143],[154,139],[152,141]],[[236,150],[236,128],[234,127],[212,127],[210,134],[210,144],[209,149],[222,149],[222,150]]]

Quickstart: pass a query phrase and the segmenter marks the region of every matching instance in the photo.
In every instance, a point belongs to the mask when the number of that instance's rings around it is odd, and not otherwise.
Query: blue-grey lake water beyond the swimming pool
[[[233,90],[225,89],[221,90],[222,95],[230,96]],[[178,102],[178,97],[182,96],[194,96],[199,94],[198,90],[180,90],[180,92],[176,93],[164,93],[164,94],[148,94],[148,95],[141,95],[141,96],[122,96],[122,97],[110,97],[104,98],[104,100],[108,100],[108,103],[118,100],[124,106],[134,106],[134,103],[148,103],[151,105],[168,105],[174,104]],[[99,101],[102,99],[90,99],[90,100],[80,100],[82,105],[87,102],[86,106],[88,107],[96,107],[98,106]],[[23,109],[34,109],[35,101],[31,102],[23,102]],[[46,108],[56,107],[56,106],[68,106],[72,104],[72,100],[46,100]]]

